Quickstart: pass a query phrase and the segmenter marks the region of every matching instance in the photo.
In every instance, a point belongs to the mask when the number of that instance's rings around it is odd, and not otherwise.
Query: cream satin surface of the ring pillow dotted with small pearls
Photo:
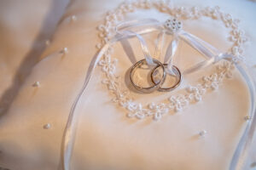
[[[49,48],[45,49],[41,61],[21,85],[9,111],[1,116],[1,166],[11,170],[52,170],[60,167],[61,137],[68,111],[79,92],[90,59],[96,54],[96,26],[102,23],[107,10],[115,8],[119,2],[78,0],[67,8]],[[253,45],[256,45],[256,23],[253,22],[255,3],[177,2],[177,5],[181,4],[201,7],[218,4],[222,10],[241,19],[241,26],[250,38],[250,46],[246,48],[247,62],[250,66],[256,64],[253,59]],[[73,14],[78,20],[71,23],[69,16]],[[139,11],[128,18],[147,17],[147,14]],[[156,11],[150,13],[150,17],[159,16],[166,17]],[[226,50],[230,47],[227,41],[229,32],[221,23],[200,21],[185,21],[183,27],[217,48]],[[179,57],[175,61],[181,68],[200,59],[185,43],[181,46],[183,50],[178,52]],[[65,47],[68,54],[60,54],[59,51]],[[132,47],[137,53],[140,52],[135,43]],[[113,56],[119,59],[119,74],[124,78],[131,63],[119,44]],[[210,73],[212,69],[214,67],[185,77],[183,87],[186,83],[195,84],[201,75]],[[111,102],[112,96],[102,85],[102,78],[102,71],[97,68],[79,103],[71,169],[228,168],[246,123],[243,117],[247,115],[250,105],[246,84],[237,71],[233,79],[224,81],[218,92],[207,93],[201,103],[189,105],[182,113],[166,115],[160,122],[128,119],[125,111]],[[36,81],[40,82],[40,88],[32,87]],[[147,103],[159,94],[132,95]],[[164,98],[166,94],[158,97]],[[46,123],[52,125],[48,130],[43,128]],[[207,130],[207,136],[198,139],[196,134],[202,129]],[[244,168],[253,168],[251,164],[255,159],[252,150]]]

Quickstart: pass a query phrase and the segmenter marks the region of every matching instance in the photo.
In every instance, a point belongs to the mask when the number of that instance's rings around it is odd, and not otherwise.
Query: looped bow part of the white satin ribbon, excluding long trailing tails
[[[142,23],[144,25],[142,25]],[[117,26],[117,32],[119,34],[123,34],[125,30],[130,30],[130,29],[139,29],[137,33],[134,31],[134,36],[136,34],[145,34],[150,31],[160,31],[160,34],[157,38],[157,46],[155,50],[155,54],[160,57],[160,52],[162,48],[162,43],[165,34],[172,34],[172,42],[169,43],[168,48],[166,50],[166,56],[164,59],[165,63],[168,63],[168,70],[167,72],[170,74],[173,74],[172,71],[172,58],[174,54],[177,51],[177,45],[179,39],[182,39],[184,42],[187,42],[192,48],[195,48],[199,53],[203,54],[204,56],[207,56],[207,60],[202,61],[201,63],[198,63],[197,65],[194,65],[190,67],[189,69],[183,71],[183,74],[189,74],[194,71],[198,71],[203,67],[206,67],[207,65],[211,65],[214,62],[217,62],[218,59],[224,59],[224,58],[229,58],[232,59],[234,56],[230,54],[222,54],[217,48],[214,48],[211,44],[208,42],[205,42],[201,40],[198,37],[195,37],[192,34],[189,34],[189,32],[186,31],[177,31],[176,33],[172,33],[171,31],[168,31],[158,20],[154,19],[146,19],[146,20],[131,20],[131,21],[126,21],[124,23],[121,23],[120,25]],[[162,38],[162,41],[160,41],[160,37]],[[145,42],[142,41],[142,38],[138,38],[141,45],[145,44]],[[144,54],[148,54],[148,52],[144,52]],[[148,58],[152,58],[151,55],[145,56],[145,59],[148,61]],[[151,60],[151,59],[150,59]],[[152,65],[148,62],[148,65]]]

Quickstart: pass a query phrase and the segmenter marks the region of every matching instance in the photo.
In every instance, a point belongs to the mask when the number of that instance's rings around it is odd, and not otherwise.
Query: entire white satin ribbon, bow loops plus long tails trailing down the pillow
[[[137,31],[131,31],[131,29],[137,29]],[[108,48],[115,42],[119,42],[122,39],[125,38],[131,38],[131,37],[137,37],[138,41],[140,42],[140,45],[143,49],[143,54],[145,59],[147,60],[148,65],[153,65],[153,58],[151,54],[149,53],[148,46],[146,42],[143,40],[143,37],[141,35],[150,33],[152,31],[160,31],[160,35],[158,37],[162,37],[162,41],[164,39],[164,35],[168,31],[164,30],[165,28],[162,26],[162,24],[158,20],[133,20],[128,22],[123,22],[119,24],[119,26],[116,27],[117,34],[109,41],[107,42],[102,49],[97,53],[93,59],[90,61],[89,68],[85,74],[84,78],[84,84],[83,87],[80,89],[79,94],[77,98],[74,100],[72,108],[69,112],[69,116],[67,119],[67,124],[65,131],[63,133],[63,139],[62,139],[62,145],[61,145],[61,165],[64,170],[69,169],[69,163],[70,158],[72,155],[73,150],[73,139],[74,139],[74,114],[76,111],[76,107],[79,103],[79,99],[81,98],[82,94],[84,93],[85,88],[87,87],[88,83],[90,82],[90,77],[95,70],[95,67],[98,63],[98,61],[102,58],[102,55],[106,53]],[[207,59],[205,61],[202,61],[201,63],[192,66],[191,68],[183,71],[183,74],[189,74],[194,71],[198,71],[199,69],[211,65],[212,63],[218,62],[220,59],[234,59],[234,56],[231,54],[223,54],[221,53],[217,48],[214,48],[211,44],[204,42],[198,37],[195,37],[194,35],[189,34],[189,32],[186,31],[179,31],[175,35],[175,37],[172,39],[172,42],[170,42],[169,46],[170,48],[167,48],[166,50],[166,56],[165,61],[168,62],[168,68],[170,69],[170,72],[172,73],[172,56],[175,54],[177,50],[177,44],[178,39],[182,39],[185,42],[188,42],[189,45],[193,48],[195,48],[197,51],[199,51],[201,54],[207,56]],[[162,41],[158,41],[159,43],[162,43]],[[156,51],[161,51],[162,45],[159,45],[156,48]],[[160,53],[157,52],[157,54]],[[253,101],[253,108],[252,111],[255,111],[255,105],[254,105],[254,96],[255,96],[255,89],[253,86],[252,78],[248,76],[247,71],[245,71],[244,67],[241,67],[239,64],[236,64],[236,67],[241,72],[243,77],[246,77],[247,79],[247,85],[251,92],[251,97]],[[241,138],[241,141],[236,148],[236,153],[233,156],[232,162],[230,164],[230,170],[236,169],[239,161],[240,156],[245,156],[245,153],[242,150],[245,150],[245,148],[248,148],[248,143],[253,138],[253,132],[256,124],[256,117],[252,113],[251,116],[253,117],[253,123],[248,123],[246,131]],[[246,140],[247,139],[247,140]]]

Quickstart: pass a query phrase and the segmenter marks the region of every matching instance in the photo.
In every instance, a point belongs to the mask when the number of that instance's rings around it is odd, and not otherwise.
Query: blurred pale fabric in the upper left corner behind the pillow
[[[68,0],[0,1],[0,115],[46,47]]]

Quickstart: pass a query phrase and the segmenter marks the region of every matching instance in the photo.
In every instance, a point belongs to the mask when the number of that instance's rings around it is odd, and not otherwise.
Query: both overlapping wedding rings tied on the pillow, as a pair
[[[154,61],[154,68],[152,68],[151,72],[150,72],[150,79],[151,79],[150,82],[152,82],[150,84],[150,86],[143,87],[142,85],[137,83],[134,79],[135,72],[137,71],[137,69],[141,68],[143,65],[148,65],[146,59],[137,61],[137,63],[131,67],[131,72],[130,72],[131,84],[138,91],[146,93],[146,94],[152,93],[156,90],[161,91],[161,92],[169,92],[169,91],[172,91],[174,88],[177,88],[182,80],[182,75],[181,75],[180,71],[177,69],[177,67],[172,65],[172,72],[174,73],[174,75],[171,75],[172,77],[175,77],[176,81],[172,84],[171,87],[164,88],[164,87],[162,87],[162,85],[166,81],[167,64],[162,64],[157,59],[153,59],[153,61]],[[159,71],[159,69],[160,69],[160,71]],[[160,73],[160,75],[159,75],[159,73]]]

